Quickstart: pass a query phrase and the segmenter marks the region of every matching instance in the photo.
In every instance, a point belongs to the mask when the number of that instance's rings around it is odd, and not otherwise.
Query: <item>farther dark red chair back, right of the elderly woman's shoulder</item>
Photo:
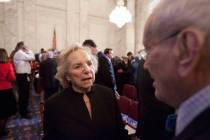
[[[134,85],[124,84],[123,90],[122,90],[122,95],[125,95],[128,98],[136,101],[137,100],[137,89]]]

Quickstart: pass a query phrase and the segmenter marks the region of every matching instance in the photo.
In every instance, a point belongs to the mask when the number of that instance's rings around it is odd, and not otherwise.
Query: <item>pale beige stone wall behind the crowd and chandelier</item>
[[[142,46],[142,31],[148,0],[128,0],[133,21],[119,29],[108,20],[116,0],[12,0],[0,4],[0,45],[13,50],[24,40],[34,52],[52,46],[54,28],[57,47],[92,38],[101,50],[113,48],[115,55],[137,52]]]

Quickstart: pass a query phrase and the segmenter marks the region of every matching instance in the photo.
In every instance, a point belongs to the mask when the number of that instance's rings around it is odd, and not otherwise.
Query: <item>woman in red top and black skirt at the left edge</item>
[[[8,54],[5,49],[0,48],[0,137],[8,134],[6,122],[17,111],[12,86],[14,80],[15,72]]]

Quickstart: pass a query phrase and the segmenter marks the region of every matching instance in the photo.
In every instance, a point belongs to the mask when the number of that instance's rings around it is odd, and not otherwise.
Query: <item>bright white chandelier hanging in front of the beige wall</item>
[[[124,6],[124,0],[117,0],[117,6],[109,15],[109,21],[121,28],[124,24],[131,22],[131,13]]]

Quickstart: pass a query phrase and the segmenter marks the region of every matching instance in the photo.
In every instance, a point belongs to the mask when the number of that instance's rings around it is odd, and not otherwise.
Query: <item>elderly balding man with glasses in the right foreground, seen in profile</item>
[[[155,96],[177,109],[174,140],[209,140],[210,0],[162,0],[143,43]]]

